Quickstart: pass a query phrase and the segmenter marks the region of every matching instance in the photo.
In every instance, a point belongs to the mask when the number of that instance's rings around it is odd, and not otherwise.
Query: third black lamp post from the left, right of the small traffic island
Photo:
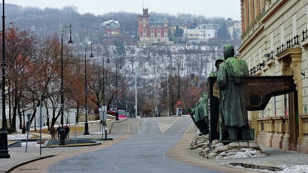
[[[89,133],[89,124],[88,124],[88,87],[87,87],[87,47],[91,46],[91,55],[90,58],[93,58],[94,56],[92,55],[92,43],[87,44],[84,47],[84,79],[85,79],[85,87],[84,87],[84,93],[85,93],[85,109],[86,109],[86,122],[84,123],[84,133],[83,135],[90,135]]]

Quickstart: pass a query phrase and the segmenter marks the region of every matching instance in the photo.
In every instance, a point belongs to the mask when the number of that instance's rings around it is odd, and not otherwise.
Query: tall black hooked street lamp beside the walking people
[[[63,36],[64,36],[64,31],[69,29],[70,30],[70,40],[67,42],[68,44],[74,43],[72,41],[72,26],[74,24],[70,23],[70,26],[64,26],[61,30],[61,129],[60,129],[60,141],[59,145],[66,145],[65,143],[65,130],[63,128],[63,109],[64,109],[64,84],[63,84]]]

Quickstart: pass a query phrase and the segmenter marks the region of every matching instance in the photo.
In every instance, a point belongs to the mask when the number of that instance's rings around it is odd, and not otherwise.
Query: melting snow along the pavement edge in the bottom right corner
[[[267,173],[308,173],[308,165],[293,165],[290,167],[286,167],[285,165],[279,165],[279,167],[283,167],[284,169],[282,171],[269,171],[265,169],[252,169],[252,168],[245,168],[241,167],[239,165],[233,166],[229,163],[219,163],[218,165],[226,166],[234,169],[242,169],[246,171],[258,171],[258,172],[267,172]]]

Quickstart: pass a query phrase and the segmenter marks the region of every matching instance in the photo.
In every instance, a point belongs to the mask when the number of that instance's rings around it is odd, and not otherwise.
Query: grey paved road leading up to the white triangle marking
[[[191,123],[190,117],[128,119],[114,123],[110,134],[130,134],[132,137],[112,147],[55,163],[47,172],[214,172],[176,162],[165,156],[165,152],[182,137]]]

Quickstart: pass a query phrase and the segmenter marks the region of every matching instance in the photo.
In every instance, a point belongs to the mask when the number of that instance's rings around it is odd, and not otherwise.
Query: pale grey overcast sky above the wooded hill
[[[121,10],[142,13],[142,0],[6,0],[5,2],[40,8],[74,5],[82,14],[91,12],[98,15]],[[203,14],[206,17],[230,17],[237,20],[241,18],[240,0],[144,0],[144,7],[148,7],[149,12],[170,14],[181,12]]]

